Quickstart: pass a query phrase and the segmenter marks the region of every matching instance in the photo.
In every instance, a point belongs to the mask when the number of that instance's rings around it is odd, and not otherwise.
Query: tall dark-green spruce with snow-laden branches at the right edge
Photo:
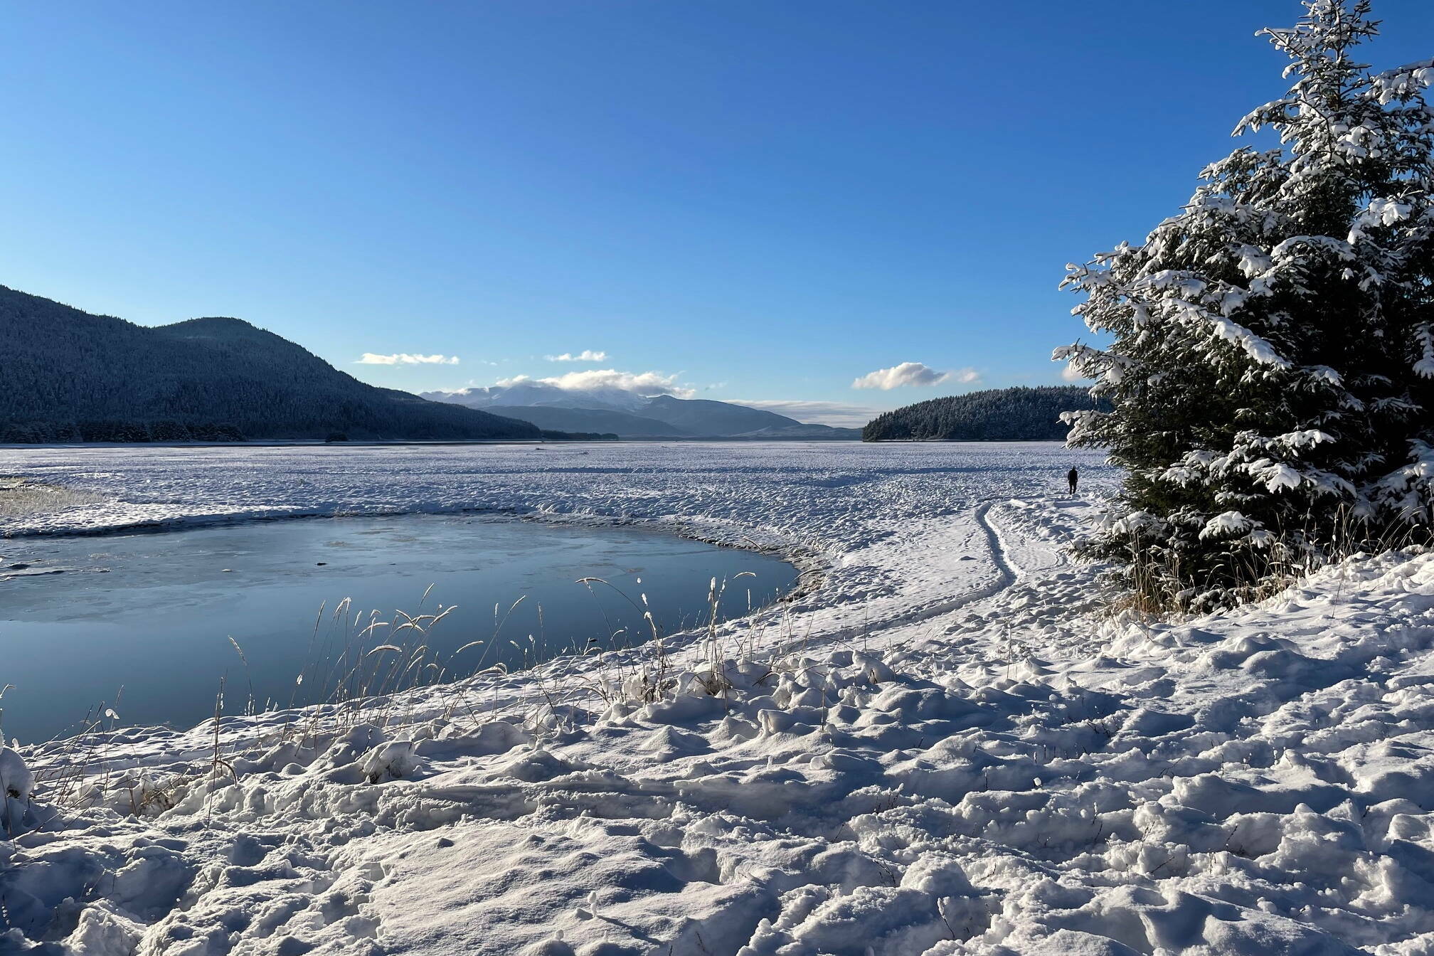
[[[1367,0],[1263,34],[1289,93],[1240,120],[1282,148],[1202,172],[1140,247],[1070,267],[1104,350],[1055,351],[1113,411],[1070,443],[1127,472],[1090,542],[1147,605],[1249,599],[1434,517],[1434,60],[1374,75]]]

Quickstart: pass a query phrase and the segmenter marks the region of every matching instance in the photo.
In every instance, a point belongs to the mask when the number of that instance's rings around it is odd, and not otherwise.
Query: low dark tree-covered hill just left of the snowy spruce
[[[1058,441],[1063,411],[1094,408],[1078,386],[988,388],[918,401],[876,416],[862,429],[865,441]]]

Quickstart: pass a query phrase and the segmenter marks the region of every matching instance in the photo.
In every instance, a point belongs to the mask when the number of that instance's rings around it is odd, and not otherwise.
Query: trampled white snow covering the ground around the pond
[[[716,635],[225,718],[218,752],[27,751],[29,797],[0,752],[0,949],[1434,953],[1434,559],[1111,615],[1060,550],[1098,506],[1073,462],[1116,480],[1050,444],[0,450],[99,497],[10,533],[483,507],[815,572]]]

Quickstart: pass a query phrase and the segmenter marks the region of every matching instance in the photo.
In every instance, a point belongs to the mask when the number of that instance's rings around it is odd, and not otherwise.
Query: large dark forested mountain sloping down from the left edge
[[[0,441],[536,439],[376,388],[237,318],[148,328],[0,285]]]

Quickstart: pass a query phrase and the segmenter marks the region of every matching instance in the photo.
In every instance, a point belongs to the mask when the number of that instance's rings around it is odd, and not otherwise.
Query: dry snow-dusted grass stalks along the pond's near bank
[[[744,576],[753,575],[737,575]],[[728,582],[714,578],[708,588],[703,632],[697,638],[701,661],[691,669],[678,669],[671,656],[671,636],[664,635],[658,626],[645,592],[632,596],[599,578],[585,578],[579,583],[589,591],[595,586],[614,591],[641,613],[644,629],[631,632],[614,628],[602,612],[601,602],[597,602],[607,625],[607,641],[591,638],[587,644],[579,644],[575,639],[565,651],[566,655],[594,658],[592,666],[564,668],[561,679],[545,677],[539,671],[531,672],[542,699],[541,707],[526,715],[526,724],[535,732],[561,725],[575,705],[602,707],[619,701],[640,705],[684,688],[724,695],[731,687],[724,677],[730,664],[750,664],[760,658],[776,674],[782,669],[780,661],[790,658],[794,662],[799,659],[794,652],[806,645],[803,638],[793,634],[787,613],[774,625],[749,616],[734,622],[731,628],[723,628],[720,612]],[[413,615],[402,611],[393,615],[360,611],[351,599],[341,601],[333,611],[321,606],[308,638],[307,664],[295,675],[288,701],[255,698],[248,679],[248,656],[231,638],[245,678],[247,695],[237,701],[241,712],[225,714],[227,694],[239,685],[221,679],[212,721],[196,728],[205,734],[209,752],[202,764],[186,767],[181,773],[152,775],[142,770],[112,771],[108,754],[116,734],[115,707],[119,701],[116,698],[113,705],[102,701],[79,724],[77,734],[27,748],[42,757],[36,783],[43,788],[44,803],[62,810],[106,804],[136,816],[161,813],[175,806],[191,785],[206,783],[212,791],[237,781],[237,764],[241,758],[254,758],[277,745],[290,744],[298,752],[317,757],[331,741],[358,725],[371,725],[380,731],[409,727],[416,721],[414,707],[420,702],[420,695],[409,691],[419,687],[433,688],[443,720],[469,724],[476,731],[490,720],[490,714],[485,711],[483,682],[472,678],[500,678],[509,672],[508,665],[495,662],[499,648],[515,648],[522,669],[565,656],[545,654],[541,635],[512,639],[505,634],[509,618],[526,598],[519,598],[506,609],[495,605],[493,628],[488,639],[470,641],[450,654],[440,654],[435,649],[432,634],[456,606],[440,605],[424,612],[430,591],[432,586],[423,593],[417,613]],[[749,615],[754,611],[750,592],[744,611]],[[542,608],[538,608],[538,621],[541,632]],[[773,626],[779,629],[776,634],[771,632]],[[277,708],[288,711],[290,722],[275,727],[258,721],[261,712]],[[225,730],[242,730],[245,722],[252,722],[252,734],[224,734]]]

